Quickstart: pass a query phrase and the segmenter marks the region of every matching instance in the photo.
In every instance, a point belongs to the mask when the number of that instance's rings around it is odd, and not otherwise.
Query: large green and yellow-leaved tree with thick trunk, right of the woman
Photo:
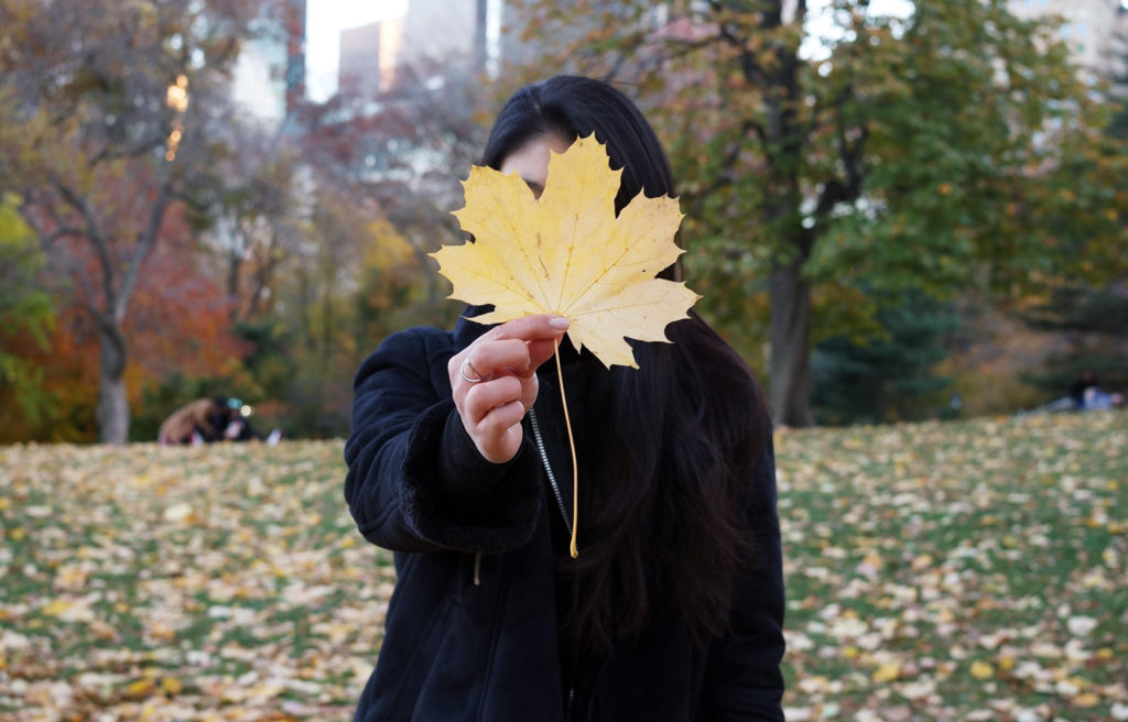
[[[777,422],[812,422],[811,346],[844,330],[826,310],[866,321],[873,304],[840,313],[864,288],[1013,293],[1086,258],[1123,264],[1123,162],[1093,133],[1092,89],[1052,23],[1002,0],[908,18],[835,0],[821,37],[805,0],[525,12],[541,42],[570,25],[567,68],[629,87],[667,140],[705,310],[739,327],[769,296]]]

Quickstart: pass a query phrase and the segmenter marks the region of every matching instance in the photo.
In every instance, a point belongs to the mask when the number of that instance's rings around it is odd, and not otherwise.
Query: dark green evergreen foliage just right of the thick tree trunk
[[[951,380],[933,369],[948,356],[945,341],[959,328],[959,315],[920,292],[897,301],[876,312],[880,335],[836,336],[816,346],[811,377],[820,422],[920,419],[945,405]]]

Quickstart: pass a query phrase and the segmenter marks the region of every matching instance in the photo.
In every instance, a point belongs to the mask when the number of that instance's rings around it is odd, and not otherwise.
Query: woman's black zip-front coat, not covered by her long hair
[[[462,429],[447,362],[485,329],[388,338],[355,381],[345,498],[361,533],[395,552],[398,574],[360,722],[562,722],[547,482],[529,434],[508,464]],[[556,418],[544,382],[535,405]],[[555,402],[558,405],[558,400]],[[544,426],[544,425],[543,425]],[[565,458],[548,435],[549,460]],[[591,671],[571,719],[783,720],[783,574],[770,448],[750,480],[761,562],[740,580],[731,632],[694,648],[672,615]]]

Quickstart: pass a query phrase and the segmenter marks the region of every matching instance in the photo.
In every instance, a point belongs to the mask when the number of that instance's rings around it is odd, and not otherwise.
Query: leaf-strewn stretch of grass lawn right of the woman
[[[1128,720],[1128,415],[777,444],[788,720]]]

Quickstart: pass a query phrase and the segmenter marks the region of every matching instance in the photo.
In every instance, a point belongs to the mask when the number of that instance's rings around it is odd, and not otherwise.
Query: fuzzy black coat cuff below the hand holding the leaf
[[[453,401],[416,419],[403,478],[404,518],[423,538],[484,553],[532,538],[541,497],[536,454],[525,442],[509,463],[488,462],[462,428]]]

